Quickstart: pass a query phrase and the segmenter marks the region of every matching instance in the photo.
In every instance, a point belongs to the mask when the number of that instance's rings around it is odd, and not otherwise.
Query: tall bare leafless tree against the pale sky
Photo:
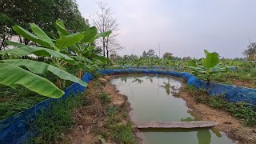
[[[121,50],[122,46],[117,42],[118,22],[113,18],[113,12],[107,3],[98,2],[99,12],[90,16],[94,26],[97,27],[99,32],[105,33],[106,31],[112,31],[112,34],[108,37],[100,38],[99,43],[102,44],[103,56],[109,58],[110,52],[115,50]]]

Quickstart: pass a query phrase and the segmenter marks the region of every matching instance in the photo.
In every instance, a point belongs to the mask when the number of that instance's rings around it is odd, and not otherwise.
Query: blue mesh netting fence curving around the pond
[[[130,68],[126,69],[107,69],[98,70],[98,74],[163,74],[170,75],[186,80],[188,86],[194,86],[198,89],[209,90],[210,95],[224,94],[226,101],[228,102],[247,102],[256,106],[256,89],[250,89],[242,86],[224,85],[218,83],[210,83],[195,78],[192,74],[186,72],[175,72],[172,70],[160,70],[158,68],[146,69],[142,68]],[[90,73],[84,74],[82,81],[90,82],[93,79],[93,75]],[[47,110],[54,101],[61,101],[70,96],[82,94],[86,90],[86,87],[74,83],[65,90],[65,94],[62,98],[54,99],[48,98],[37,105],[34,105],[18,114],[14,114],[10,118],[6,118],[0,121],[0,143],[23,143],[34,135],[35,132],[31,130],[29,121],[31,118],[35,118],[35,114],[38,114],[42,109]]]

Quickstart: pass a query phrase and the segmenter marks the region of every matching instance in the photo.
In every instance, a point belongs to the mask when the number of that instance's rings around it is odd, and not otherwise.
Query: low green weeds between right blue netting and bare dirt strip
[[[198,90],[188,86],[186,90],[193,96],[196,102],[207,104],[215,109],[226,110],[234,117],[242,120],[246,126],[256,125],[256,107],[246,102],[227,102],[223,95],[209,96],[207,90]]]

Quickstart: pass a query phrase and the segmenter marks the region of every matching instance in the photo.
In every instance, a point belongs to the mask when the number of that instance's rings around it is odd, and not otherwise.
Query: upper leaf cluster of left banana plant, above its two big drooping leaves
[[[67,65],[68,63],[72,65],[77,65],[80,67],[80,74],[78,78],[81,78],[82,77],[81,69],[87,68],[91,70],[92,69],[91,67],[93,65],[88,58],[80,57],[78,56],[78,53],[74,53],[74,51],[72,50],[75,49],[77,46],[79,46],[79,43],[85,43],[85,42],[92,43],[96,38],[106,37],[111,32],[98,34],[97,29],[94,29],[93,33],[89,29],[84,32],[71,34],[68,30],[66,30],[62,21],[56,21],[54,26],[58,32],[58,36],[54,34],[50,34],[50,36],[48,36],[46,32],[44,32],[34,23],[30,23],[30,29],[34,34],[30,33],[30,31],[28,30],[23,29],[21,26],[13,26],[14,31],[22,35],[23,38],[29,39],[30,41],[38,44],[39,47],[26,46],[16,42],[7,42],[9,45],[17,46],[19,49],[6,51],[6,54],[19,54],[19,55],[35,54],[36,56],[47,56],[52,61],[50,62],[51,65],[57,66],[62,70],[66,69],[65,65]],[[17,52],[17,50],[19,53]],[[78,49],[77,51],[80,52],[81,50]],[[57,54],[61,56],[56,57],[53,55],[46,54],[46,52],[48,53],[55,52],[54,54],[56,54],[57,52]],[[70,55],[70,56],[67,57],[67,55]],[[95,54],[90,54],[90,55],[95,56]],[[65,80],[63,80],[62,82],[61,79],[57,78],[57,83],[58,83],[58,87],[65,86]]]

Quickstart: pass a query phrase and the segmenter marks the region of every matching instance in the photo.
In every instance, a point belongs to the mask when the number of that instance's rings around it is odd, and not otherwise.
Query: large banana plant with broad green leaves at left
[[[50,37],[41,30],[34,23],[30,24],[30,28],[34,34],[21,26],[13,26],[14,31],[22,35],[23,38],[29,39],[35,43],[35,46],[26,46],[17,42],[7,42],[14,46],[10,50],[1,50],[1,55],[18,55],[27,56],[34,54],[36,56],[44,56],[49,58],[52,62],[50,64],[44,62],[36,62],[24,59],[9,59],[0,61],[0,84],[17,88],[18,86],[25,86],[27,89],[37,92],[50,98],[60,98],[64,92],[55,86],[46,78],[42,78],[41,74],[51,72],[64,80],[77,82],[82,86],[86,86],[86,82],[82,82],[79,78],[65,71],[64,63],[77,64],[74,55],[70,54],[70,47],[76,46],[78,42],[84,40],[84,34],[78,32],[70,34],[65,29],[62,22],[57,21],[55,27],[58,29],[59,38],[52,34]],[[86,34],[85,34],[86,35]],[[90,41],[104,36],[104,34],[97,34]],[[86,38],[90,38],[87,37]],[[70,55],[70,56],[68,56]],[[23,69],[23,67],[26,69]]]

